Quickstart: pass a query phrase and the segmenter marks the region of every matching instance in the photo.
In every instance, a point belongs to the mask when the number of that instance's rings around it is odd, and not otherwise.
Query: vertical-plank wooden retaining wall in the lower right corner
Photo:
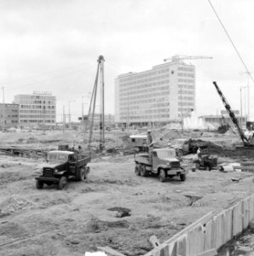
[[[216,250],[245,230],[254,218],[254,195],[216,216],[207,213],[144,256],[215,255]]]

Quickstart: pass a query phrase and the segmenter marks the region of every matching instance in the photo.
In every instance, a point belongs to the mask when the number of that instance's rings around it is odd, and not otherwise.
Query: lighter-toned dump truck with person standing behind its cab
[[[174,148],[149,149],[149,153],[135,154],[135,173],[146,177],[150,174],[159,175],[160,182],[165,182],[166,177],[179,176],[185,181],[187,171],[182,168],[176,159]]]

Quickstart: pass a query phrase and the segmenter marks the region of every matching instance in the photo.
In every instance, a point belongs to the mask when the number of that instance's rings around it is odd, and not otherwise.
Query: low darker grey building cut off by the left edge
[[[19,105],[0,103],[0,128],[1,130],[19,127]]]

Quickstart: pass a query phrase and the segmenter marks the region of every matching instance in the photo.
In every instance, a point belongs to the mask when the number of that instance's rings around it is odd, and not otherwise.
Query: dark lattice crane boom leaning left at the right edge
[[[229,117],[231,118],[232,122],[234,123],[234,125],[237,128],[237,131],[240,135],[240,139],[242,140],[242,142],[244,143],[245,147],[253,147],[254,146],[254,137],[251,138],[247,138],[245,136],[245,133],[240,129],[240,125],[238,122],[238,119],[236,118],[234,112],[232,111],[226,97],[222,94],[222,90],[219,88],[219,86],[216,84],[216,82],[213,82],[218,95],[220,96],[220,98],[222,99],[222,102],[224,104],[224,107],[226,108],[226,110],[228,111]]]

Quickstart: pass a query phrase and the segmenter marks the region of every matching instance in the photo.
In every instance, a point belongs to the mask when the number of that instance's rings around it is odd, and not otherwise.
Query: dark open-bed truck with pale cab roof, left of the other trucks
[[[49,151],[42,174],[35,177],[36,188],[43,189],[44,184],[57,184],[58,189],[66,189],[70,179],[83,181],[89,174],[87,164],[90,159],[90,156],[67,150]]]

